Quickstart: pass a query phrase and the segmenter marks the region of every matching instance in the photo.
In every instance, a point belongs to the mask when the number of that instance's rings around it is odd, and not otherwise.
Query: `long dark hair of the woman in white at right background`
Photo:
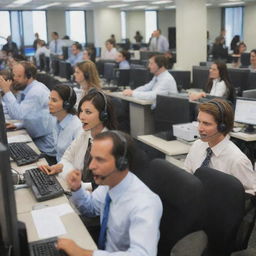
[[[219,70],[219,74],[220,74],[220,81],[224,81],[228,90],[228,96],[227,99],[229,101],[231,101],[232,103],[234,103],[235,101],[235,90],[234,90],[234,86],[231,84],[229,75],[228,75],[228,69],[227,69],[227,65],[225,62],[220,61],[220,60],[216,60],[213,62],[213,64],[217,65],[217,68]],[[207,86],[206,86],[206,92],[209,93],[212,89],[213,86],[213,79],[209,78],[208,82],[207,82]]]

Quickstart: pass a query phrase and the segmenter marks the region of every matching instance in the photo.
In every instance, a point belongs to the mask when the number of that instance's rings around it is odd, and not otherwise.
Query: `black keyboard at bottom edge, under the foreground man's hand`
[[[67,254],[55,247],[56,237],[29,243],[30,256],[67,256]]]

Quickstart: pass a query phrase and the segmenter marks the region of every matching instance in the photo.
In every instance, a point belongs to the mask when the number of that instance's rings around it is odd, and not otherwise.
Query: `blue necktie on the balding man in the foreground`
[[[105,246],[106,246],[107,224],[108,224],[108,214],[109,214],[110,203],[111,203],[111,198],[109,196],[109,193],[107,193],[105,198],[105,207],[104,207],[99,241],[98,241],[98,246],[99,246],[99,249],[101,250],[105,250]]]

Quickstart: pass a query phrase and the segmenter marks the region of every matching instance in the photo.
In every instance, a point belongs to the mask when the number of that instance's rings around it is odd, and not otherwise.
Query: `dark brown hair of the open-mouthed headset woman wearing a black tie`
[[[101,92],[104,94],[104,92]],[[78,116],[82,112],[82,105],[86,101],[91,101],[94,107],[99,111],[99,114],[105,110],[105,100],[103,98],[103,95],[101,93],[98,93],[97,90],[95,90],[95,93],[88,93],[86,94],[79,102],[77,112]],[[104,94],[105,95],[105,94]],[[115,130],[117,128],[117,120],[116,115],[113,109],[112,102],[109,97],[105,95],[105,98],[107,100],[107,114],[108,118],[107,120],[103,121],[103,125],[107,127],[109,130]]]

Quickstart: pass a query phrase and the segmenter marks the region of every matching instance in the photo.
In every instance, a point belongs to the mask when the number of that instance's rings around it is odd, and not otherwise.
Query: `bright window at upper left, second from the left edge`
[[[36,32],[39,38],[47,41],[45,11],[23,11],[22,21],[24,45],[33,44]]]

